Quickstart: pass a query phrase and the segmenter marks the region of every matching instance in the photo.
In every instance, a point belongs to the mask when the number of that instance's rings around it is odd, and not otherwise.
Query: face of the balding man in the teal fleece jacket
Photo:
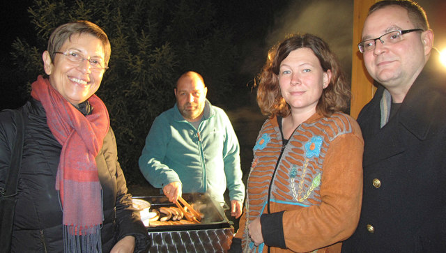
[[[178,80],[175,89],[176,105],[187,121],[199,121],[203,115],[208,89],[201,79],[186,75]]]

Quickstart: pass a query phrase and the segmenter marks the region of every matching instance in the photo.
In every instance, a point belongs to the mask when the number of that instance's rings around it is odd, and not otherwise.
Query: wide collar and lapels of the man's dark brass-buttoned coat
[[[442,71],[438,71],[438,62],[438,53],[434,51],[410,87],[397,114],[382,128],[379,128],[382,118],[380,100],[385,89],[383,86],[378,87],[374,99],[358,117],[365,141],[364,167],[403,153],[406,150],[403,132],[408,131],[420,140],[426,139],[438,118],[433,113],[443,111],[436,107],[442,104],[439,100],[443,100],[446,93],[446,77]]]

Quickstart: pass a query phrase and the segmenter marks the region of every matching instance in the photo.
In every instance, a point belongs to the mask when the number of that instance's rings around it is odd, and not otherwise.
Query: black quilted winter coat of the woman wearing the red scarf
[[[32,99],[20,110],[26,128],[12,252],[63,252],[63,213],[54,186],[62,146],[49,130],[45,109],[39,101]],[[15,137],[16,131],[10,118],[10,114],[0,114],[0,187],[5,184],[14,141],[11,137]],[[137,210],[131,207],[132,197],[127,193],[111,128],[95,160],[103,194],[102,252],[109,252],[128,235],[136,238],[135,252],[147,252],[147,230]]]

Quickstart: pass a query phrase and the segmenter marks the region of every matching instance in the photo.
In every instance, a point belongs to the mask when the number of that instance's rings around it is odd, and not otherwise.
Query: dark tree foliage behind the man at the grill
[[[174,105],[174,86],[183,72],[203,75],[213,104],[233,90],[240,52],[233,31],[217,22],[213,1],[36,0],[29,13],[36,45],[17,38],[12,53],[23,90],[43,74],[41,55],[57,26],[89,20],[109,36],[109,70],[97,95],[109,109],[129,184],[144,182],[137,160],[153,119]]]

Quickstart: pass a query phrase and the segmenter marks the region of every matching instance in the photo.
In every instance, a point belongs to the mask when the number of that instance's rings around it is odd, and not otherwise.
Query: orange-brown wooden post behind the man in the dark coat
[[[376,3],[376,0],[354,0],[353,2],[353,45],[351,62],[351,107],[350,115],[357,118],[362,107],[373,98],[376,91],[374,80],[370,77],[364,63],[362,54],[357,49],[357,43],[361,41],[362,26],[370,6]]]

